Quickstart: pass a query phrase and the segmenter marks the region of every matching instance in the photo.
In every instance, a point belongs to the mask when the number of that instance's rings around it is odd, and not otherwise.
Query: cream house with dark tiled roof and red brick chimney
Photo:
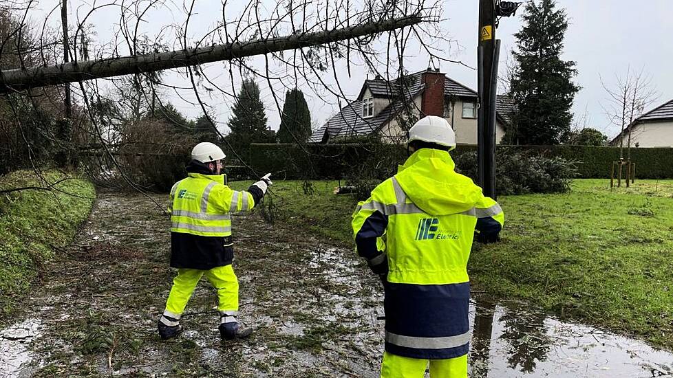
[[[330,143],[376,136],[383,142],[402,143],[414,120],[438,115],[449,121],[458,144],[477,144],[477,92],[427,69],[394,80],[376,76],[365,80],[357,98],[341,108],[309,142]],[[515,104],[506,96],[496,103],[496,142],[511,122]]]

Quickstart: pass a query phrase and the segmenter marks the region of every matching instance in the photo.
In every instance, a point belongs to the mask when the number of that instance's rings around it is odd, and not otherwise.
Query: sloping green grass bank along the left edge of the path
[[[52,257],[54,247],[72,240],[87,219],[96,197],[85,179],[56,170],[43,173],[54,190],[23,190],[0,194],[0,315],[25,298],[30,280]],[[0,190],[43,186],[31,170],[0,177]],[[48,185],[47,184],[47,185]]]

